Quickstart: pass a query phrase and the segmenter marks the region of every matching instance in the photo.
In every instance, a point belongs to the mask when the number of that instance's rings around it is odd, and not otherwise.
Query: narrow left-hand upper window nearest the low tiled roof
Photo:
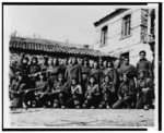
[[[102,28],[102,36],[101,36],[101,47],[105,46],[107,43],[107,26]]]

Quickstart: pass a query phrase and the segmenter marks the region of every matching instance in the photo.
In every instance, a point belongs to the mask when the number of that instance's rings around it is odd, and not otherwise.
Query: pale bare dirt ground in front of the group
[[[16,109],[11,126],[153,126],[154,110]]]

